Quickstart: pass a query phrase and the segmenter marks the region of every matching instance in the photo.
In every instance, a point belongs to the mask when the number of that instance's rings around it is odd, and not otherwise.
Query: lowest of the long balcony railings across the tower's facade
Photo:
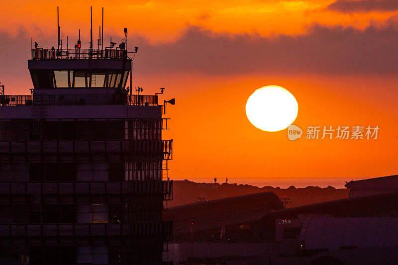
[[[130,224],[0,224],[0,238],[10,236],[68,237],[68,236],[133,236],[135,238],[158,238],[170,241],[173,236],[173,222]]]

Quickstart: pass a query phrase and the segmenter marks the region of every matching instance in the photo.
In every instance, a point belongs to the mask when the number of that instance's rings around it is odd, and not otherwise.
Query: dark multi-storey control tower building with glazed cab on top
[[[172,140],[128,55],[33,49],[31,94],[0,95],[1,264],[162,264]]]

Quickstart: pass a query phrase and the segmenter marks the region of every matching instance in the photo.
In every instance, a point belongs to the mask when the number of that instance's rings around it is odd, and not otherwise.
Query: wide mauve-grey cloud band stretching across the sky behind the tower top
[[[397,24],[394,18],[385,26],[372,25],[365,30],[314,24],[304,35],[273,38],[218,34],[190,26],[172,43],[150,44],[139,36],[131,36],[128,43],[139,47],[134,60],[134,71],[139,76],[396,74]],[[0,82],[23,85],[26,90],[26,86],[31,87],[26,63],[30,57],[30,37],[20,31],[15,38],[1,33],[0,38]],[[52,38],[33,41],[48,47],[54,43]],[[82,43],[87,45],[88,40],[82,38]]]

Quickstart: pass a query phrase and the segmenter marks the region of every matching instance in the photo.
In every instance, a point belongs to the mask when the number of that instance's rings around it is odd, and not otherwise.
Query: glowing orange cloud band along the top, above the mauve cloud
[[[56,10],[60,6],[60,25],[64,39],[76,38],[90,32],[90,5],[93,5],[94,34],[101,20],[101,4],[89,1],[18,1],[2,4],[0,31],[15,36],[20,27],[32,37],[56,36]],[[233,34],[258,33],[261,36],[278,34],[298,35],[308,25],[343,25],[364,28],[373,21],[383,22],[397,11],[345,14],[327,9],[326,0],[272,0],[259,1],[117,1],[104,4],[105,35],[122,36],[128,27],[134,34],[152,43],[172,42],[178,39],[187,25],[199,26],[213,32]],[[78,8],[76,8],[78,6]]]

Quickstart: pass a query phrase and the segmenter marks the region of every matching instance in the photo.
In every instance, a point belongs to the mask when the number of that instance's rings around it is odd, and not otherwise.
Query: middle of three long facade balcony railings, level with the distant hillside
[[[0,183],[0,195],[10,194],[131,194],[134,196],[163,195],[164,200],[171,200],[173,198],[173,180]]]

